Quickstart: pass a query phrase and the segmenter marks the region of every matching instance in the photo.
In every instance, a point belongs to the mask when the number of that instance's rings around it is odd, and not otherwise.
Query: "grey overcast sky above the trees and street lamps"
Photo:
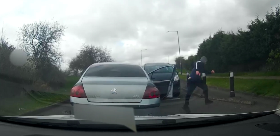
[[[65,62],[83,43],[106,46],[117,62],[141,65],[175,63],[179,56],[195,55],[199,43],[218,29],[237,31],[258,14],[265,16],[279,0],[1,0],[0,23],[6,38],[17,45],[24,23],[58,21],[65,25],[60,42]],[[67,68],[64,63],[62,68]]]

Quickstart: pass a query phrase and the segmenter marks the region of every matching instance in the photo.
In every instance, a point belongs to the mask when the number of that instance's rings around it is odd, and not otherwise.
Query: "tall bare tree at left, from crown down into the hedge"
[[[36,75],[45,82],[62,78],[59,42],[65,26],[58,22],[33,22],[24,24],[18,32],[18,44],[35,63]]]

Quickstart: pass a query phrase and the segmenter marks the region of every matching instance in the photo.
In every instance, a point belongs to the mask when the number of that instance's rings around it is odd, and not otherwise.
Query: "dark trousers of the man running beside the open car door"
[[[196,87],[199,87],[203,90],[205,100],[208,100],[208,86],[202,82],[202,80],[194,81],[191,78],[187,81],[187,94],[185,98],[185,105],[189,105],[190,96],[192,95],[193,91]]]

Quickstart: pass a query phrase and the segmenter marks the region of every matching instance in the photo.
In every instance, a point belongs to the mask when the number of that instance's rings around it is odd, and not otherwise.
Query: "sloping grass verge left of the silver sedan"
[[[31,91],[21,96],[1,99],[0,116],[17,116],[65,101],[69,99],[70,90],[78,80],[79,77],[67,77],[64,87],[55,92]]]

